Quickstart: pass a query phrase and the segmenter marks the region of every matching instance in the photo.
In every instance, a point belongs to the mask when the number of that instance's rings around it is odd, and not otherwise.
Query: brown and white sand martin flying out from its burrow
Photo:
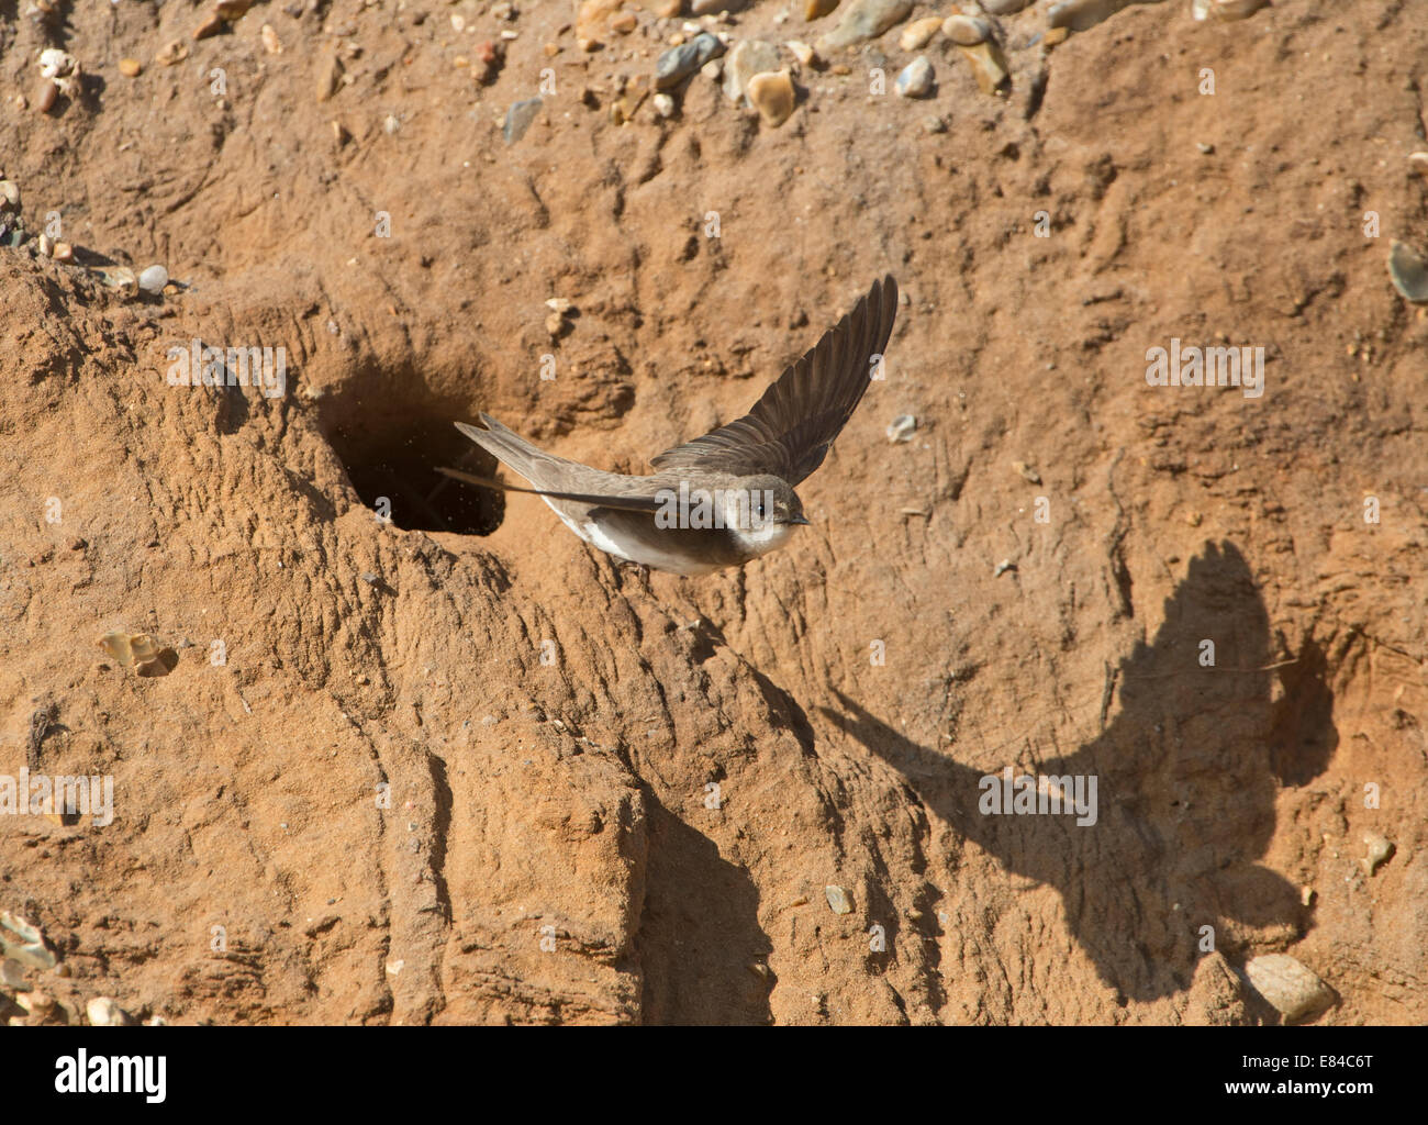
[[[874,281],[817,347],[743,418],[651,460],[648,477],[605,473],[536,448],[488,414],[457,423],[531,488],[443,468],[448,477],[543,497],[580,538],[628,562],[675,574],[741,567],[807,524],[794,485],[828,453],[883,364],[897,283]]]

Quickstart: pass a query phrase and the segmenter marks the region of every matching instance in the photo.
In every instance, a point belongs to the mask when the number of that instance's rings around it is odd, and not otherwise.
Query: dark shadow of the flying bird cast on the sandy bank
[[[1212,667],[1202,664],[1207,641]],[[962,837],[1008,871],[1055,887],[1101,978],[1122,1002],[1152,1001],[1188,988],[1201,927],[1214,927],[1215,948],[1234,957],[1242,927],[1297,935],[1312,925],[1295,887],[1257,861],[1274,834],[1279,785],[1321,774],[1338,745],[1334,701],[1312,645],[1291,665],[1269,664],[1268,614],[1244,555],[1207,544],[1167,600],[1154,641],[1121,661],[1120,711],[1072,754],[974,770],[955,761],[955,744],[920,745],[841,694],[844,714],[821,710]],[[1274,675],[1285,690],[1277,701]],[[1095,822],[990,811],[984,778],[1000,789],[1007,764],[1017,777],[1081,777],[1084,797],[1094,778]]]

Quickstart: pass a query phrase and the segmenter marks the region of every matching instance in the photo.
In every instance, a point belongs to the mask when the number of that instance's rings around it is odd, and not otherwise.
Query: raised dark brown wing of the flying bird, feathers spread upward
[[[771,473],[790,484],[808,477],[828,453],[864,391],[897,316],[897,283],[874,281],[817,347],[770,384],[743,418],[661,453],[661,470],[715,470],[738,477]]]

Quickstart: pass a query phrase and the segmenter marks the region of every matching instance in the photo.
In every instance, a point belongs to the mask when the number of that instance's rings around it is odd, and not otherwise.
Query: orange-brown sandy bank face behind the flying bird
[[[1038,4],[1000,21],[1010,97],[938,37],[922,101],[898,26],[777,128],[703,76],[617,124],[681,26],[634,4],[594,53],[554,1],[258,3],[200,41],[207,4],[27,7],[0,774],[111,775],[114,821],[0,818],[0,908],[61,965],[0,1015],[1254,1024],[1242,967],[1288,952],[1319,1022],[1428,1019],[1428,318],[1385,268],[1428,246],[1412,4],[1171,0],[1054,50]],[[454,60],[501,30],[481,86]],[[50,46],[84,77],[39,113]],[[76,263],[36,254],[50,211]],[[151,263],[174,293],[93,271]],[[643,471],[883,273],[887,378],[745,570],[644,580],[534,497],[426,503],[481,410]],[[1147,385],[1172,337],[1264,347],[1264,395]],[[194,338],[286,348],[286,391],[169,385]],[[1094,775],[1097,824],[982,815],[1008,765]]]

